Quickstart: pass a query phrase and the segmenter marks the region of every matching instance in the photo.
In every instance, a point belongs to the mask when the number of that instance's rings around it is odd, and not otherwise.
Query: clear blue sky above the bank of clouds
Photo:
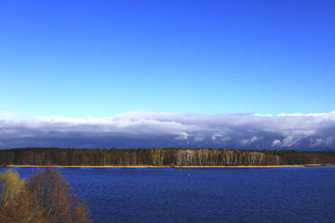
[[[335,1],[0,3],[0,111],[335,110]]]

